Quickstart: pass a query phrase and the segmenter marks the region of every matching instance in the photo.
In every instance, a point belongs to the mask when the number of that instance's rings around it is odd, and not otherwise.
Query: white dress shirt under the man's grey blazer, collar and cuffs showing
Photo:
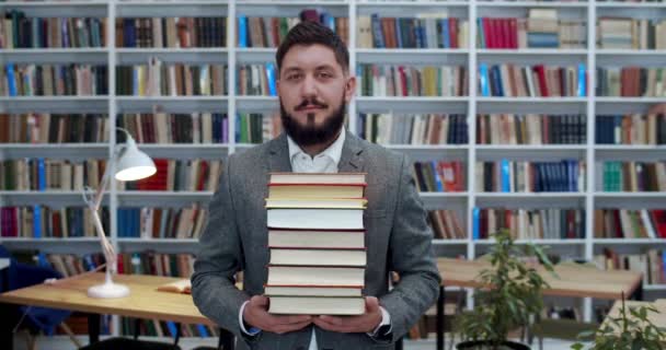
[[[306,153],[296,142],[294,142],[290,137],[287,136],[291,171],[294,173],[337,173],[337,164],[340,164],[340,159],[342,158],[342,147],[344,143],[345,129],[343,128],[335,142],[333,142],[328,149],[323,150],[321,153],[312,158],[308,153]],[[256,335],[259,330],[248,331],[243,325],[243,311],[245,310],[246,304],[248,302],[243,303],[238,317],[239,323],[241,325],[241,330],[244,334],[252,336]],[[383,307],[379,307],[381,310],[381,323],[372,332],[369,332],[368,336],[375,335],[379,327],[391,324],[391,316],[389,315],[389,313]],[[310,347],[308,348],[308,350],[317,349],[317,336],[314,334],[314,328],[312,328],[312,337],[310,338]]]

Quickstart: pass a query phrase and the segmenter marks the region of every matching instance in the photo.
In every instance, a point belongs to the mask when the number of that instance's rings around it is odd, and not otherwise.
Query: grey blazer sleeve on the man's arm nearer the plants
[[[391,315],[390,342],[405,335],[438,296],[440,277],[432,241],[427,212],[403,156],[389,243],[389,268],[400,275],[400,282],[379,299]]]

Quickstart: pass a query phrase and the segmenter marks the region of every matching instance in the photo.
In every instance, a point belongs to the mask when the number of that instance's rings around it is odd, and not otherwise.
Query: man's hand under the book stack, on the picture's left
[[[276,316],[268,314],[268,298],[255,295],[243,310],[243,320],[250,326],[278,335],[299,330],[312,323],[310,315]]]

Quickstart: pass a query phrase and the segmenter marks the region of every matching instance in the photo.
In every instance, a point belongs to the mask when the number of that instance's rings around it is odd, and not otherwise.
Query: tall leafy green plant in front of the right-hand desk
[[[509,341],[510,330],[527,327],[530,315],[541,312],[542,292],[548,283],[527,259],[540,260],[553,273],[550,259],[542,247],[533,244],[516,246],[508,230],[494,234],[489,259],[491,268],[479,273],[476,280],[487,288],[476,289],[474,310],[458,317],[456,330],[462,342],[456,348],[467,349],[529,349]]]

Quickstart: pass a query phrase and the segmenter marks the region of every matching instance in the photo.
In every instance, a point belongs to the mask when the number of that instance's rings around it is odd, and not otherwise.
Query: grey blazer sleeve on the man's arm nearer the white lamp
[[[208,222],[199,242],[192,275],[192,296],[199,312],[220,327],[242,337],[240,307],[250,299],[234,285],[243,253],[231,191],[233,156],[226,162],[218,190],[208,207]]]

